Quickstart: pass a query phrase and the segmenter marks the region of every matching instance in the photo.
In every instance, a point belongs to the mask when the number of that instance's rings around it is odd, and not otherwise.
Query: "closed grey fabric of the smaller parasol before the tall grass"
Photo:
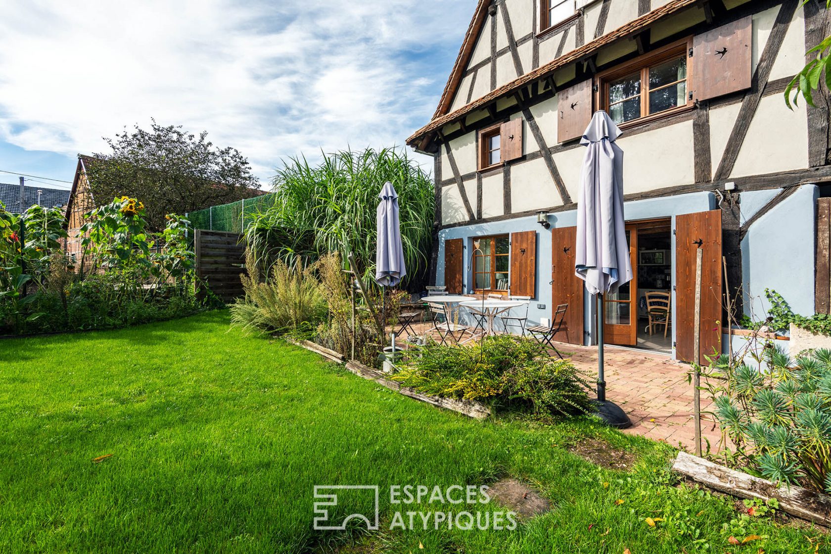
[[[395,287],[407,274],[404,248],[401,246],[401,228],[398,218],[398,194],[387,181],[378,204],[378,242],[375,251],[375,280],[382,287]]]

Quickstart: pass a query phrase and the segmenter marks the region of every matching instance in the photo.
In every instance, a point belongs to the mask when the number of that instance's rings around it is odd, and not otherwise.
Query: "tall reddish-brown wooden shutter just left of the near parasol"
[[[551,229],[551,313],[559,304],[568,304],[563,331],[558,341],[583,344],[583,280],[574,274],[576,227]]]

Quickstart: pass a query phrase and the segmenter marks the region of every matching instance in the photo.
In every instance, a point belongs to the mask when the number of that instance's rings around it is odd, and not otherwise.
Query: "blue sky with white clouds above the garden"
[[[234,146],[265,188],[289,156],[403,145],[475,4],[5,0],[0,170],[71,180],[77,153],[151,117]]]

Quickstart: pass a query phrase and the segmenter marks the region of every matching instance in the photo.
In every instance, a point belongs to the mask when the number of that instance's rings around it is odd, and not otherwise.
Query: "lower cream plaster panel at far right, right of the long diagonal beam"
[[[808,167],[808,118],[804,102],[794,111],[781,95],[759,102],[730,177]]]

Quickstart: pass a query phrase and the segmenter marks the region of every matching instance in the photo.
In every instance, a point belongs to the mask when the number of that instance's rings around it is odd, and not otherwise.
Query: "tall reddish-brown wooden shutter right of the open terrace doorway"
[[[696,250],[701,261],[701,356],[721,345],[721,210],[676,216],[676,356],[692,361],[696,309]]]

